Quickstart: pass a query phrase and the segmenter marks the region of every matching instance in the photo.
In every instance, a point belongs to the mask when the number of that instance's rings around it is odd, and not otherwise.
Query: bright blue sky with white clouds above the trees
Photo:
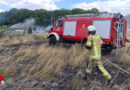
[[[100,11],[130,14],[130,0],[0,0],[0,12],[11,8],[35,9],[73,9],[98,8]]]

